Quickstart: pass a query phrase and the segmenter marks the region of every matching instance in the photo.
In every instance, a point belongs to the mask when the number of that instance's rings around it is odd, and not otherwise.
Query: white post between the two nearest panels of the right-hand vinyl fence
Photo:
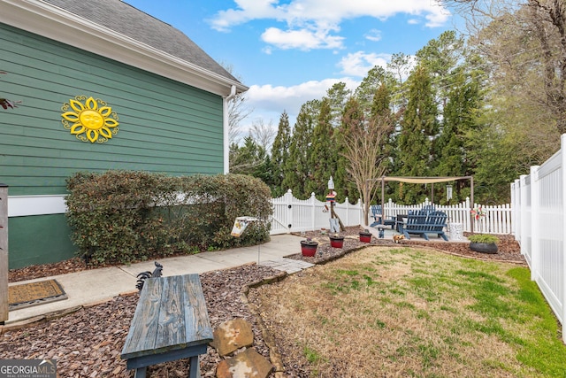
[[[539,167],[531,166],[531,280],[540,274],[540,181]]]

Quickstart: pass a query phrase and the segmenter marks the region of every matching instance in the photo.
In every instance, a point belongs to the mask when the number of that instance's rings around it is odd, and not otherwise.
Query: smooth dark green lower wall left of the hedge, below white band
[[[13,217],[8,220],[8,266],[48,264],[73,258],[65,214]]]

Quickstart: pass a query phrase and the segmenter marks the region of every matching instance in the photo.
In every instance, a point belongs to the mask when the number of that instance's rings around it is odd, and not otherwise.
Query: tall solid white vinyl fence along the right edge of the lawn
[[[515,237],[548,304],[562,323],[566,342],[566,135],[561,149],[531,174],[511,184]]]

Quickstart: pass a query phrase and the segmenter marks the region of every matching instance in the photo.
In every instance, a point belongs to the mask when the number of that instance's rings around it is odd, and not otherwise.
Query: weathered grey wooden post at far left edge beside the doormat
[[[0,184],[0,324],[8,320],[8,185]]]

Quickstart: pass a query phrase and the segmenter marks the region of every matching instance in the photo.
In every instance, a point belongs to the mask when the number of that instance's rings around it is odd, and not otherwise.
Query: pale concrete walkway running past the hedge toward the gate
[[[302,237],[296,235],[272,235],[269,243],[259,246],[203,252],[174,258],[159,258],[158,262],[164,266],[164,276],[201,274],[249,263],[272,266],[274,269],[284,270],[292,274],[305,267],[312,266],[301,260],[285,258],[285,256],[300,253],[300,241],[302,239]],[[11,311],[8,314],[8,320],[5,321],[6,328],[10,328],[10,325],[14,323],[33,322],[57,313],[73,312],[80,306],[96,305],[120,294],[135,292],[137,291],[135,289],[137,274],[145,271],[152,272],[154,269],[154,260],[151,260],[129,266],[111,266],[25,282],[11,282],[10,286],[55,279],[65,290],[67,299]]]

